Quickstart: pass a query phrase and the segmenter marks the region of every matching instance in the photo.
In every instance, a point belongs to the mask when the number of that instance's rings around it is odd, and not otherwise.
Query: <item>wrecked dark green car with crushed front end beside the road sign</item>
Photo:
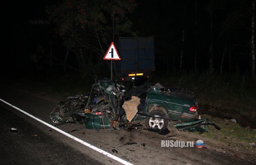
[[[50,117],[56,124],[83,123],[88,129],[106,129],[145,123],[147,128],[165,129],[168,121],[198,120],[197,101],[192,92],[183,88],[151,86],[147,77],[135,77],[126,95],[125,87],[109,79],[96,80],[87,95],[70,96],[60,101]],[[122,108],[132,96],[140,102],[132,119]],[[134,108],[135,109],[135,108]]]

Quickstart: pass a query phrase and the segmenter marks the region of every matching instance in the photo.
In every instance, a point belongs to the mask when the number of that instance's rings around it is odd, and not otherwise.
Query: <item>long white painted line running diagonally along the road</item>
[[[33,119],[35,119],[35,120],[37,120],[37,121],[43,123],[44,125],[46,125],[46,126],[52,128],[52,129],[54,129],[54,130],[60,132],[61,134],[64,134],[64,135],[66,135],[67,137],[69,137],[69,138],[71,138],[71,139],[74,139],[75,141],[78,141],[79,143],[82,143],[83,145],[85,145],[85,146],[87,146],[87,147],[90,147],[90,148],[92,148],[93,150],[96,150],[96,151],[100,152],[101,154],[104,154],[104,155],[108,156],[109,158],[112,158],[112,159],[114,159],[114,160],[116,160],[116,161],[119,161],[120,163],[122,163],[122,164],[124,164],[124,165],[132,165],[131,163],[129,163],[129,162],[123,160],[123,159],[120,159],[120,158],[118,158],[118,157],[115,156],[115,155],[109,154],[108,152],[106,152],[106,151],[104,151],[104,150],[102,150],[102,149],[100,149],[100,148],[97,148],[97,147],[95,147],[95,146],[93,146],[93,145],[90,145],[89,143],[86,143],[85,141],[83,141],[83,140],[81,140],[81,139],[78,139],[78,138],[76,138],[76,137],[74,137],[74,136],[72,136],[72,135],[70,135],[70,134],[64,132],[63,130],[60,130],[59,128],[56,128],[56,127],[54,127],[54,126],[52,126],[52,125],[46,123],[45,121],[38,119],[37,117],[35,117],[35,116],[29,114],[28,112],[25,112],[24,110],[21,110],[20,108],[14,106],[14,105],[11,105],[10,103],[8,103],[8,102],[6,102],[6,101],[4,101],[4,100],[2,100],[2,99],[0,99],[0,101],[6,103],[7,105],[9,105],[9,106],[11,106],[11,107],[13,107],[13,108],[19,110],[20,112],[22,112],[22,113],[24,113],[24,114],[26,114],[26,115],[32,117]]]

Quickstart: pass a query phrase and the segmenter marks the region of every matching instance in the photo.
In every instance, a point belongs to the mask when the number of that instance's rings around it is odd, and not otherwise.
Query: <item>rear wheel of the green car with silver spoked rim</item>
[[[156,117],[166,117],[166,115],[159,110],[154,110],[154,111],[150,112],[148,115],[156,116]],[[148,117],[146,119],[146,126],[147,126],[147,128],[158,128],[158,129],[163,130],[163,129],[167,128],[168,120],[154,118],[154,117]]]

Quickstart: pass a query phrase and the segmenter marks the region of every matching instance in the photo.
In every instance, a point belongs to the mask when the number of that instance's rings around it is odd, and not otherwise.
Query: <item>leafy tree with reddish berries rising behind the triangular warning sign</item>
[[[63,0],[57,6],[48,6],[46,13],[83,71],[94,67],[88,65],[92,58],[102,63],[109,44],[118,36],[131,33],[128,15],[136,6],[134,0]],[[117,73],[115,65],[114,69]]]

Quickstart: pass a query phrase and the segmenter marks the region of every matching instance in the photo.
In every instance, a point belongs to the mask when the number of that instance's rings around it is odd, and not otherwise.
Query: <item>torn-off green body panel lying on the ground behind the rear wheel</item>
[[[213,125],[217,130],[221,129],[219,126],[215,125],[209,119],[200,119],[197,121],[178,123],[178,124],[175,124],[174,127],[176,129],[183,129],[184,131],[189,131],[189,132],[195,132],[195,131],[207,132],[208,125]]]

